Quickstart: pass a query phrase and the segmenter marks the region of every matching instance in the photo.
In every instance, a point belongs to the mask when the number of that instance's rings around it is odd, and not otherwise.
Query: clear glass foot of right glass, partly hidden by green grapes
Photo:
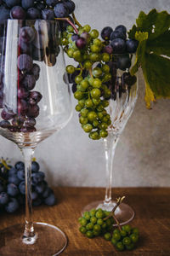
[[[116,201],[111,201],[110,203],[104,203],[104,201],[94,201],[82,209],[82,215],[83,212],[89,212],[92,209],[99,208],[111,212],[115,206]],[[133,208],[129,207],[127,204],[122,203],[119,207],[116,208],[115,216],[121,225],[127,224],[134,218]],[[113,224],[113,226],[117,226],[117,224]]]

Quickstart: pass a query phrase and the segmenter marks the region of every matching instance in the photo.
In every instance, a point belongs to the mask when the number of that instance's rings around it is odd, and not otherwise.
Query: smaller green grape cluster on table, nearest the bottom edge
[[[139,230],[130,225],[122,226],[122,230],[114,230],[111,237],[111,243],[118,251],[133,250],[138,240]]]

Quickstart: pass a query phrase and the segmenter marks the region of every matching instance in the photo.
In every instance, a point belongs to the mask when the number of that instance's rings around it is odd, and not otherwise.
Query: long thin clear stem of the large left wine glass
[[[32,199],[31,199],[31,158],[34,154],[34,148],[21,148],[25,160],[26,176],[26,224],[23,235],[23,242],[29,243],[35,237],[34,226],[32,222]],[[31,242],[32,243],[32,242]]]

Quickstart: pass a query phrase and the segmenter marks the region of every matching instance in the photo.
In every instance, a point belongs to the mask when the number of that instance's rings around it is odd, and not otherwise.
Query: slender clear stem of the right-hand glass
[[[119,136],[112,131],[108,132],[108,137],[104,139],[105,146],[105,167],[106,167],[106,188],[105,188],[105,201],[104,204],[111,203],[111,184],[112,184],[112,167],[115,155],[116,144],[118,143]]]

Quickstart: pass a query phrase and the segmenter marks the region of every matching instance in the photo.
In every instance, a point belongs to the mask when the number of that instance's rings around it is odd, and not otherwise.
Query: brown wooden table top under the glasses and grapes
[[[35,207],[34,219],[58,225],[68,237],[68,246],[62,256],[169,256],[170,255],[170,189],[167,188],[123,188],[114,189],[114,196],[126,195],[126,201],[133,206],[135,218],[132,225],[139,227],[138,248],[131,252],[116,252],[110,241],[104,238],[88,239],[79,232],[77,218],[82,207],[90,201],[104,197],[105,189],[98,188],[56,188],[58,204],[54,207]],[[13,215],[0,215],[0,229],[11,224],[20,224],[24,211]],[[38,254],[39,255],[39,254]],[[10,255],[15,256],[15,255]],[[22,255],[25,256],[25,255]],[[26,253],[26,256],[30,256]],[[37,256],[37,253],[35,255]],[[44,251],[43,255],[50,256]]]

